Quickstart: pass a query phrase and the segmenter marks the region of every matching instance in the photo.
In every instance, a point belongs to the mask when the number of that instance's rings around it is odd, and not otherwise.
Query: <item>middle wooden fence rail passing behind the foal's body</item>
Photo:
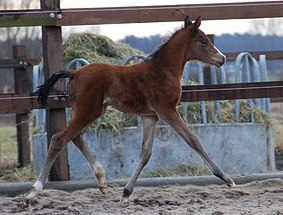
[[[183,86],[181,102],[283,97],[283,81]],[[0,114],[28,113],[32,109],[70,107],[69,98],[50,95],[42,107],[37,96],[27,93],[0,94]]]

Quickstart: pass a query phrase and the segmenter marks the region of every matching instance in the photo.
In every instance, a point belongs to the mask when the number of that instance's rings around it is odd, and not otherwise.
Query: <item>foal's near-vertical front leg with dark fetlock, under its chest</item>
[[[142,117],[142,129],[143,129],[142,149],[140,152],[140,157],[136,169],[132,174],[129,182],[124,188],[121,203],[127,203],[129,201],[129,197],[134,190],[134,186],[138,179],[138,176],[142,171],[143,167],[147,164],[151,156],[154,132],[157,121],[158,121],[157,116]]]

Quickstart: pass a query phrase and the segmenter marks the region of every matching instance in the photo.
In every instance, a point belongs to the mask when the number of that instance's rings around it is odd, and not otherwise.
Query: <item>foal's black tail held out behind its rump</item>
[[[55,72],[50,78],[48,78],[44,84],[38,86],[38,90],[35,92],[38,95],[37,101],[43,106],[47,105],[47,98],[51,91],[52,86],[61,78],[71,78],[72,75],[67,70]]]

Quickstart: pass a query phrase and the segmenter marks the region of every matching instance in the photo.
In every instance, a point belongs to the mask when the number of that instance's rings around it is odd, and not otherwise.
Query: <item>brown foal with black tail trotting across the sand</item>
[[[211,160],[176,110],[187,61],[199,60],[217,67],[225,62],[225,56],[199,29],[200,24],[200,17],[194,23],[186,17],[185,26],[143,63],[131,66],[92,63],[78,70],[57,72],[39,86],[39,101],[46,104],[48,93],[55,82],[60,78],[70,78],[68,92],[72,117],[68,127],[52,137],[44,167],[32,191],[23,201],[23,207],[27,207],[43,189],[54,160],[69,141],[73,141],[90,162],[98,179],[99,189],[106,193],[104,169],[83,142],[82,134],[104,113],[108,105],[142,117],[142,149],[136,169],[124,188],[121,202],[128,202],[137,178],[151,156],[155,127],[159,119],[168,123],[203,158],[215,176],[230,187],[235,185]]]

